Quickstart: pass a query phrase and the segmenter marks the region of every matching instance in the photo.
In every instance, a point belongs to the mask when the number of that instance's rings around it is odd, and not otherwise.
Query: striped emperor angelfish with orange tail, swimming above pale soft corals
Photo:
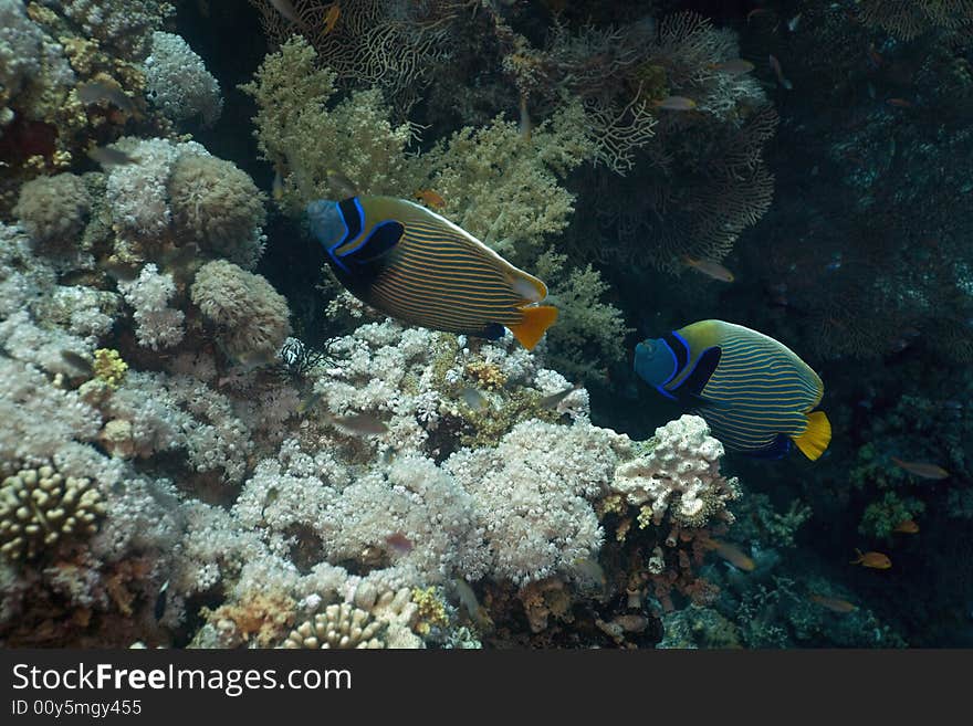
[[[506,327],[529,350],[557,319],[557,308],[537,305],[547,296],[543,282],[426,207],[320,199],[307,217],[338,281],[394,318],[490,339]]]

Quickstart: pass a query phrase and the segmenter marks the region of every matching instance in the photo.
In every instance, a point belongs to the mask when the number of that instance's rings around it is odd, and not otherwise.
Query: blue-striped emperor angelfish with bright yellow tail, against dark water
[[[831,440],[828,417],[814,410],[824,394],[818,375],[742,325],[700,320],[644,340],[635,370],[666,398],[691,404],[730,450],[780,457],[793,441],[814,461]]]

